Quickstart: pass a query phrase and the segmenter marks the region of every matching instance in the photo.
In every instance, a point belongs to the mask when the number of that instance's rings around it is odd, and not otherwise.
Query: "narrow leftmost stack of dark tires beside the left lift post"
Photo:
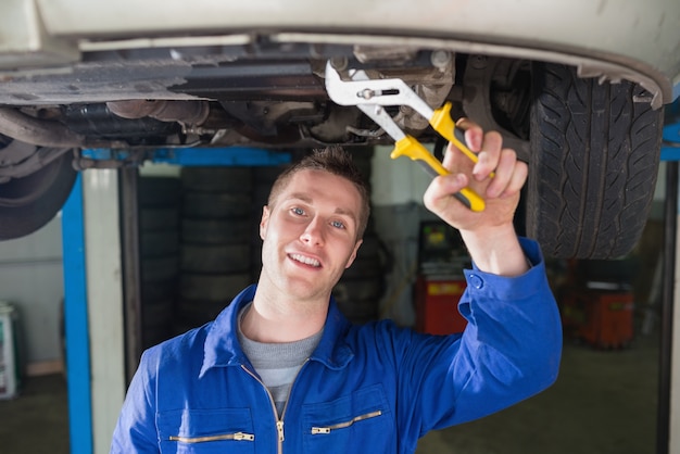
[[[174,177],[138,180],[141,344],[143,349],[174,335],[179,278],[180,184]]]

